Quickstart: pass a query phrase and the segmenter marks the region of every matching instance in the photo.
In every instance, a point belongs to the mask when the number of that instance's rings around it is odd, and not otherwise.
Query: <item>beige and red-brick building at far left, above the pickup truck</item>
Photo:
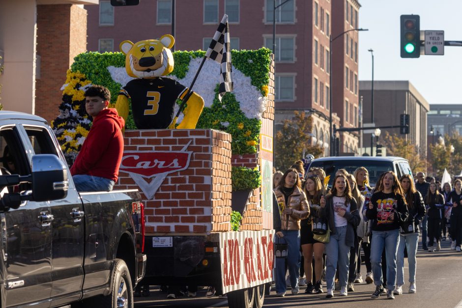
[[[97,3],[98,0],[0,2],[4,110],[33,113],[48,121],[58,115],[66,71],[74,56],[87,50],[87,11],[83,4]]]

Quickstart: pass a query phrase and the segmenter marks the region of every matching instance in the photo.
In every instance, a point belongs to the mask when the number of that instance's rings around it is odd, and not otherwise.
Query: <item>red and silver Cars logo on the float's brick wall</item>
[[[143,191],[146,198],[150,200],[169,173],[188,168],[193,152],[187,152],[186,149],[191,144],[191,141],[181,151],[124,151],[119,171],[128,173]],[[148,183],[145,178],[153,179]]]

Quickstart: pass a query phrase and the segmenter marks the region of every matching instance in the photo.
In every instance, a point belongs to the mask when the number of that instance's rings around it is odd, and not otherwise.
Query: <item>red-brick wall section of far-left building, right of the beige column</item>
[[[86,9],[70,4],[37,5],[37,55],[41,63],[35,84],[35,114],[49,122],[57,117],[63,77],[74,57],[86,51]]]

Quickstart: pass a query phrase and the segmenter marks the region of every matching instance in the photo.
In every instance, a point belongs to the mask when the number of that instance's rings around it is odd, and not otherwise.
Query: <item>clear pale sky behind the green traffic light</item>
[[[334,0],[338,1],[338,0]],[[400,57],[400,15],[420,15],[421,30],[444,30],[462,41],[462,0],[359,0],[359,80],[409,80],[430,104],[462,103],[462,47],[444,56]],[[335,33],[333,33],[335,34]]]

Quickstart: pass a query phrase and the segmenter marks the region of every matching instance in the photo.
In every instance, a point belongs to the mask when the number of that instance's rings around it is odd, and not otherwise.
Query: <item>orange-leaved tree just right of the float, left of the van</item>
[[[295,161],[303,158],[303,152],[318,157],[323,148],[311,145],[313,120],[305,112],[294,111],[292,119],[283,121],[283,127],[276,133],[275,167],[279,170],[289,168]]]

